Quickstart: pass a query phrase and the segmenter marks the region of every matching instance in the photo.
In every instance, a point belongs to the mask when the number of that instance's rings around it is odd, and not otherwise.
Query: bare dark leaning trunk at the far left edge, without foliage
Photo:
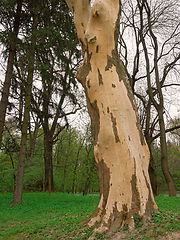
[[[0,101],[0,148],[2,143],[2,134],[4,129],[6,109],[8,105],[9,89],[11,85],[11,77],[12,77],[13,64],[14,64],[14,56],[16,53],[16,41],[17,41],[17,35],[19,32],[19,26],[20,26],[21,9],[22,9],[22,0],[18,0],[15,20],[14,20],[14,32],[12,33],[12,39],[10,41],[7,71],[6,71],[6,76],[5,76],[4,86],[3,86],[2,97]]]

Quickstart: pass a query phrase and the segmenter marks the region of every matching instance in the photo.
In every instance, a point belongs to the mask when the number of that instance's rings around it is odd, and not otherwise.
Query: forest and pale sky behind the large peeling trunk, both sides
[[[148,1],[148,12],[140,2],[122,1],[119,55],[136,97],[157,195],[168,191],[163,154],[180,191],[180,4]],[[65,2],[2,0],[0,51],[0,191],[14,192],[22,161],[24,191],[98,192],[90,120],[75,77],[82,57]]]

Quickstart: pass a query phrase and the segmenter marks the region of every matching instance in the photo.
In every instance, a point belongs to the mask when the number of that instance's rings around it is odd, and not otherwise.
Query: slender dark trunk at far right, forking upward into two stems
[[[169,196],[176,196],[176,186],[174,184],[173,178],[169,172],[168,168],[168,157],[167,157],[167,144],[166,144],[166,134],[165,134],[165,123],[164,123],[164,117],[163,117],[163,109],[164,109],[164,99],[163,99],[163,93],[162,93],[162,80],[160,81],[159,77],[159,66],[158,66],[158,41],[157,37],[155,36],[152,28],[152,22],[151,22],[151,11],[150,6],[148,5],[148,2],[146,0],[140,2],[138,1],[138,8],[139,8],[139,16],[140,16],[140,23],[141,23],[141,29],[139,31],[141,42],[143,45],[144,55],[145,55],[145,61],[146,61],[146,71],[147,71],[147,84],[148,84],[148,92],[149,96],[151,98],[151,101],[154,105],[154,107],[157,110],[158,113],[158,120],[159,120],[159,127],[160,127],[160,143],[161,143],[161,166],[162,171],[165,176],[168,190],[169,190]],[[149,35],[151,36],[151,41],[154,48],[154,72],[155,72],[155,81],[156,81],[156,94],[152,90],[151,86],[151,74],[150,74],[150,61],[149,61],[149,55],[148,55],[148,49],[146,46],[145,38],[144,38],[144,16],[143,14],[146,13],[148,21],[148,28],[149,28]],[[155,98],[157,96],[157,98]]]

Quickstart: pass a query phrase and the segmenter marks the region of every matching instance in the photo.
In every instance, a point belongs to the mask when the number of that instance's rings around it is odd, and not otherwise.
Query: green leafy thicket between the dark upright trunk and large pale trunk
[[[62,192],[99,191],[92,141],[75,129],[63,131],[54,151],[54,180]]]

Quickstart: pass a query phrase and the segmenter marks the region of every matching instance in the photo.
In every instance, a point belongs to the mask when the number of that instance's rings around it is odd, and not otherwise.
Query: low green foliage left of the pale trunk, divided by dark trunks
[[[13,137],[13,134],[11,137]],[[12,192],[17,170],[19,145],[17,144],[18,147],[14,148],[14,143],[10,144],[7,139],[10,139],[8,135],[4,138],[3,153],[0,154],[0,191]],[[43,130],[40,128],[35,151],[30,155],[30,137],[28,136],[23,183],[26,192],[43,190],[43,139]],[[56,191],[84,192],[84,194],[98,192],[99,179],[94,160],[91,133],[81,136],[75,129],[62,131],[53,148],[53,170]]]

